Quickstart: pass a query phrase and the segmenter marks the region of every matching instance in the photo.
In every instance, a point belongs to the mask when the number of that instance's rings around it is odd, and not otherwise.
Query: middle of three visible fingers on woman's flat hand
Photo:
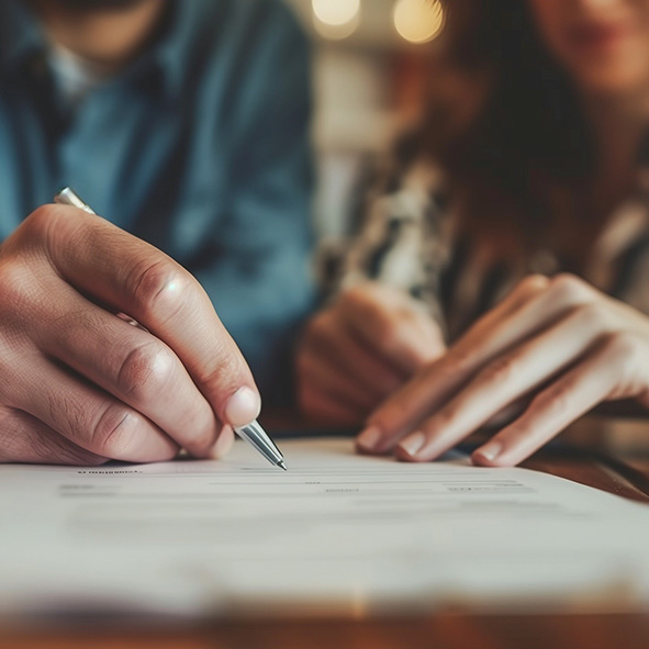
[[[456,396],[396,447],[402,459],[428,461],[456,446],[511,403],[575,362],[607,333],[602,310],[575,309],[481,370]]]

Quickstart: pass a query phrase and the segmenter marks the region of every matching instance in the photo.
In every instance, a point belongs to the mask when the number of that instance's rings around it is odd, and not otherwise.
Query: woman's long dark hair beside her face
[[[528,211],[538,180],[588,176],[593,144],[575,89],[537,32],[527,0],[445,0],[419,145],[451,178],[496,188]],[[449,88],[465,81],[465,91]],[[479,99],[471,88],[480,88]],[[467,103],[472,103],[467,111]]]

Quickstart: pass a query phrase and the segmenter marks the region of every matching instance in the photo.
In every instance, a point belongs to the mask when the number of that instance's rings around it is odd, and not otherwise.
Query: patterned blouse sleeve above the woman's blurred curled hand
[[[389,180],[381,179],[367,193],[337,288],[384,282],[417,300],[445,331],[440,283],[449,258],[449,220],[441,175],[418,160],[387,176]]]

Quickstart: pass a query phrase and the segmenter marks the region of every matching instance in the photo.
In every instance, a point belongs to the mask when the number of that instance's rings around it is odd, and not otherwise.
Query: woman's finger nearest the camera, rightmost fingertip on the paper
[[[619,385],[626,382],[625,366],[634,362],[637,351],[623,336],[608,336],[583,362],[540,392],[523,416],[478,448],[473,462],[517,465],[602,401],[634,395],[620,392]]]

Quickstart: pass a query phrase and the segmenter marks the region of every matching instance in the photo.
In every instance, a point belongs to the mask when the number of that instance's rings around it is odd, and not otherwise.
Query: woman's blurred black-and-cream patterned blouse
[[[372,279],[407,291],[449,342],[534,272],[573,272],[649,314],[649,165],[639,166],[634,190],[590,236],[579,264],[551,231],[523,242],[497,219],[458,227],[461,208],[446,198],[444,174],[429,161],[415,159],[385,178],[389,191],[373,189],[365,202],[343,261],[343,288]],[[563,238],[581,240],[588,230],[582,223]]]

